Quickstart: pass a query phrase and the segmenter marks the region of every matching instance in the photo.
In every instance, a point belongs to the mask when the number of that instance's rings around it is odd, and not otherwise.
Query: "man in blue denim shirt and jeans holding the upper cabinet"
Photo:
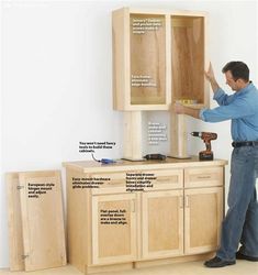
[[[243,62],[229,62],[222,72],[234,95],[226,95],[217,85],[212,66],[205,72],[218,107],[197,110],[175,105],[177,113],[184,113],[207,122],[232,120],[233,153],[228,210],[222,223],[221,244],[207,267],[223,267],[236,258],[258,261],[258,90],[249,81],[249,69]],[[239,243],[242,246],[238,250]]]

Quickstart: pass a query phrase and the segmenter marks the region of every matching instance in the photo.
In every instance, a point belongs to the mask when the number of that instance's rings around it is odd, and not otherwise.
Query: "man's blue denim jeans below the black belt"
[[[258,146],[235,147],[232,153],[228,211],[222,223],[221,246],[216,253],[222,260],[235,260],[240,252],[258,256]]]

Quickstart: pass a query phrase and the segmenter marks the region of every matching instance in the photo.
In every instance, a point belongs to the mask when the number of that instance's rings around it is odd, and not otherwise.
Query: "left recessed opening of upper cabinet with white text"
[[[166,103],[166,18],[130,14],[131,103]]]

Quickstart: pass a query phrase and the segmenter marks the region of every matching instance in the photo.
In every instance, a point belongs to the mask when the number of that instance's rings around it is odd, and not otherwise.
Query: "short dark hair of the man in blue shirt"
[[[249,81],[249,68],[244,62],[228,62],[222,69],[222,73],[231,70],[234,80],[242,78],[245,81]]]

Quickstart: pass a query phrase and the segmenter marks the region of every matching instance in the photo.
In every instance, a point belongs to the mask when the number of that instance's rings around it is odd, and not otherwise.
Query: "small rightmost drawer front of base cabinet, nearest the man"
[[[184,187],[223,186],[223,167],[186,168]]]

